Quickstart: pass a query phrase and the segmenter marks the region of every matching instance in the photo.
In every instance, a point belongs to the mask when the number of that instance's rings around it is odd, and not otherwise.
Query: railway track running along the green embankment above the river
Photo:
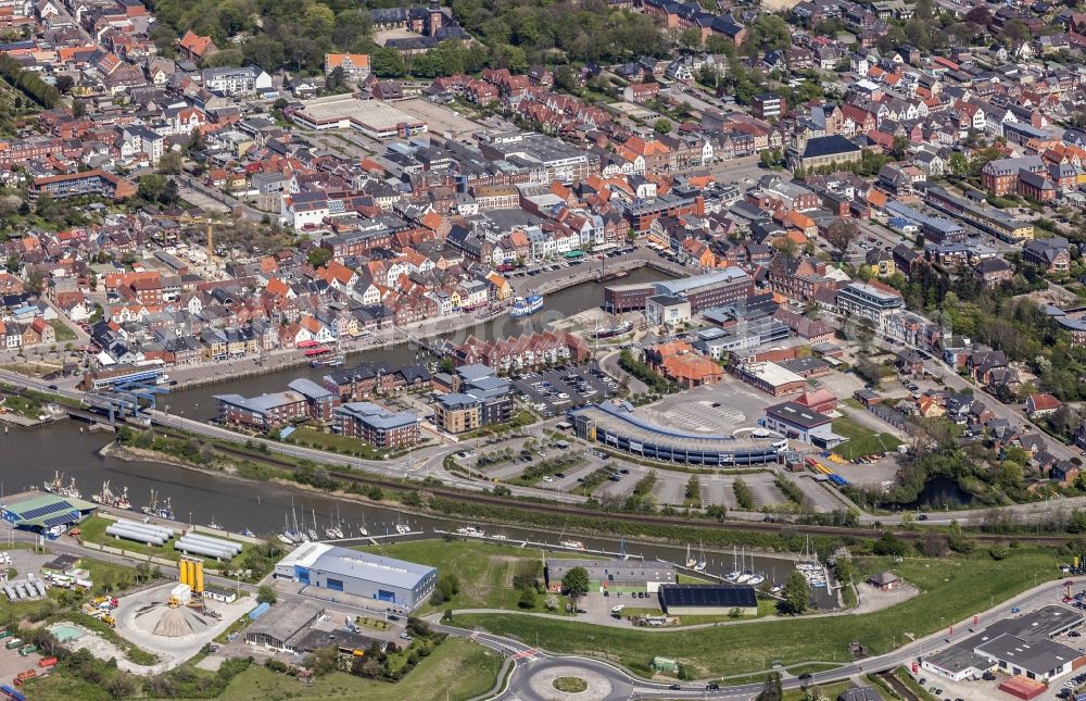
[[[156,431],[161,434],[169,435],[174,438],[191,438],[185,431],[167,428],[163,426],[155,427]],[[248,450],[240,448],[235,448],[232,446],[223,446],[220,443],[215,445],[215,450],[233,455],[243,460],[258,461],[274,465],[276,467],[281,467],[283,470],[294,471],[296,465],[287,460],[281,460],[275,458],[272,454],[265,453],[253,453]],[[329,470],[328,474],[336,479],[355,484],[355,485],[366,485],[372,487],[381,487],[393,490],[404,489],[404,483],[395,481],[392,479],[382,478],[377,475],[369,473],[356,473],[356,472],[343,472],[342,470]],[[484,492],[470,492],[470,491],[459,491],[455,489],[450,489],[447,487],[442,487],[438,485],[416,485],[418,489],[425,489],[427,492],[434,495],[437,497],[443,497],[446,499],[455,499],[457,501],[475,503],[488,506],[501,506],[501,508],[514,508],[520,511],[529,511],[534,513],[544,513],[552,515],[565,515],[565,516],[584,516],[592,518],[607,518],[609,521],[617,521],[621,523],[637,523],[637,524],[649,524],[658,526],[694,526],[697,528],[707,528],[711,530],[729,530],[729,531],[755,531],[755,533],[767,533],[775,535],[784,534],[804,534],[812,536],[833,536],[833,537],[851,537],[851,538],[874,538],[877,537],[883,530],[889,529],[876,529],[876,528],[861,528],[861,527],[849,527],[849,526],[818,526],[808,524],[797,524],[797,523],[779,523],[779,522],[757,522],[757,521],[725,521],[725,522],[715,522],[715,521],[692,521],[685,517],[677,516],[665,516],[665,515],[649,515],[649,514],[633,514],[622,511],[595,511],[592,509],[582,509],[572,504],[559,504],[555,502],[545,501],[510,501],[507,497],[500,497],[496,495],[488,495]],[[895,536],[905,540],[920,540],[926,537],[926,530],[908,530],[908,529],[893,529],[891,530]],[[974,534],[974,538],[981,542],[1003,542],[1009,539],[1015,539],[1022,542],[1032,542],[1036,544],[1063,544],[1068,541],[1068,536],[1057,536],[1057,535],[1040,535],[1040,534],[1020,534],[1020,535],[994,535],[994,534]]]

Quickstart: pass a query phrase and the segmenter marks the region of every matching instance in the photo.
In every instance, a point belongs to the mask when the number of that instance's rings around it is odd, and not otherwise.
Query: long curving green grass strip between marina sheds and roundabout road
[[[940,621],[958,621],[987,609],[993,598],[1006,600],[1038,579],[1058,574],[1056,559],[1034,549],[1014,550],[1006,560],[864,559],[860,572],[893,569],[917,586],[921,596],[891,609],[864,615],[774,619],[694,630],[640,631],[590,624],[551,621],[538,616],[459,615],[454,624],[480,626],[498,635],[535,641],[554,652],[599,655],[640,671],[656,655],[672,658],[697,669],[698,676],[729,676],[769,668],[772,660],[795,665],[811,660],[849,659],[853,640],[871,654],[886,652],[892,640],[906,634],[934,633]],[[731,651],[728,655],[719,650]]]

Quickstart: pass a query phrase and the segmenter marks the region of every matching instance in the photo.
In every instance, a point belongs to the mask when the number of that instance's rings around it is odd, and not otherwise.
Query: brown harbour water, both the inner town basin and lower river
[[[667,276],[659,272],[640,268],[611,284],[664,277]],[[584,284],[548,295],[547,309],[540,314],[522,320],[492,320],[457,331],[454,340],[456,337],[467,338],[468,335],[494,339],[543,330],[555,320],[598,306],[603,302],[603,287],[601,284]],[[396,345],[355,353],[349,359],[349,365],[366,361],[407,363],[414,362],[415,356],[414,349]],[[268,375],[175,391],[162,401],[171,404],[172,412],[206,418],[214,413],[214,395],[237,392],[254,396],[281,391],[295,377],[319,379],[327,372],[327,368],[288,368]],[[175,516],[180,522],[207,524],[214,520],[231,531],[250,528],[258,534],[278,533],[283,529],[285,523],[293,522],[295,517],[310,526],[315,517],[317,530],[321,534],[336,518],[341,520],[343,530],[348,534],[357,534],[358,528],[364,527],[370,535],[384,535],[395,533],[396,524],[406,523],[412,530],[422,530],[428,537],[433,537],[435,528],[455,530],[462,525],[468,525],[417,514],[403,515],[369,504],[299,492],[275,484],[251,483],[174,465],[128,462],[100,455],[98,451],[111,440],[110,434],[90,433],[83,424],[70,421],[33,429],[11,428],[7,433],[0,433],[0,490],[10,495],[29,488],[41,489],[42,481],[52,478],[55,471],[63,473],[65,479],[75,477],[84,498],[89,498],[108,479],[115,492],[127,487],[129,500],[136,508],[147,504],[151,490],[154,489],[160,501],[171,498]],[[558,535],[541,534],[538,530],[513,526],[480,526],[489,534],[505,535],[510,541],[559,540]],[[621,542],[613,538],[592,538],[582,534],[571,537],[584,541],[589,549],[618,552],[623,548]],[[634,556],[662,559],[678,564],[684,563],[686,559],[684,547],[626,543],[624,551]],[[723,576],[735,568],[730,552],[706,551],[705,559],[706,572],[710,574]],[[787,560],[759,555],[755,559],[755,569],[763,573],[768,579],[783,584],[792,564]],[[816,598],[822,605],[829,605],[830,599],[824,589],[819,590]]]

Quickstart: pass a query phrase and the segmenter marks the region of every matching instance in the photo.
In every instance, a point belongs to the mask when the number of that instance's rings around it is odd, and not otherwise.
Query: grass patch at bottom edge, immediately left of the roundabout
[[[487,648],[463,638],[442,642],[397,684],[363,679],[343,672],[318,677],[306,685],[260,665],[239,674],[219,697],[230,701],[444,701],[471,699],[489,691],[497,679],[502,660]],[[71,697],[70,697],[71,698]]]

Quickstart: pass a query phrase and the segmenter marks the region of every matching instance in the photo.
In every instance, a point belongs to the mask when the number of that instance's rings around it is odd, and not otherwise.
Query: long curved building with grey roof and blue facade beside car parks
[[[569,412],[569,421],[579,438],[642,458],[692,465],[774,463],[788,446],[787,439],[780,436],[736,438],[675,430],[639,418],[616,404],[576,409]]]

